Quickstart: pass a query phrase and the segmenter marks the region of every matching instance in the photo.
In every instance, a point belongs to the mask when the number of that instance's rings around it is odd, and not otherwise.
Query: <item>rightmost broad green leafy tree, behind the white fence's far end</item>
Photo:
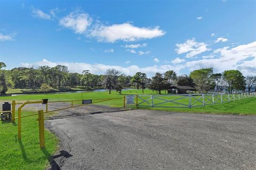
[[[223,72],[223,80],[228,84],[228,92],[245,89],[245,78],[243,74],[238,70],[226,70]]]

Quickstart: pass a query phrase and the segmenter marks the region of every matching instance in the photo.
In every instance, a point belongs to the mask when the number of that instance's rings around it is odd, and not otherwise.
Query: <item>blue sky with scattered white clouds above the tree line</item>
[[[1,1],[7,69],[256,75],[256,1]]]

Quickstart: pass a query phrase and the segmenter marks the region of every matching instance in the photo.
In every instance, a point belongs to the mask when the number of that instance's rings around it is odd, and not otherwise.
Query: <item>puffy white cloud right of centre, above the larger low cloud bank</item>
[[[194,57],[195,55],[211,50],[210,48],[207,48],[207,44],[197,43],[195,41],[195,38],[188,39],[185,43],[182,43],[182,44],[176,44],[176,46],[178,48],[176,48],[175,51],[178,54],[187,53],[186,54],[187,58],[191,58],[191,57]]]

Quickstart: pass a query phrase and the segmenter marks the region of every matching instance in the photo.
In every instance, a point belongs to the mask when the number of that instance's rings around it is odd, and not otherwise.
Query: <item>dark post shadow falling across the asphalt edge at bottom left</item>
[[[67,152],[65,150],[61,150],[60,154],[53,155],[53,156],[51,156],[51,154],[47,151],[46,148],[41,149],[41,150],[42,150],[42,152],[44,153],[45,157],[48,159],[48,161],[50,163],[50,166],[51,166],[50,169],[53,169],[53,170],[60,169],[60,166],[57,164],[57,162],[54,159],[60,158],[61,159],[60,163],[62,163],[62,159],[63,158],[69,158],[69,157],[73,156],[73,155],[69,154],[69,152]]]

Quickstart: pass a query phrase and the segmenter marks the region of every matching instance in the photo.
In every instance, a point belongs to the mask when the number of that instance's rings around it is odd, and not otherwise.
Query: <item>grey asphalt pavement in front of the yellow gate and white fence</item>
[[[52,169],[256,169],[256,116],[132,110],[46,127],[61,140]]]

